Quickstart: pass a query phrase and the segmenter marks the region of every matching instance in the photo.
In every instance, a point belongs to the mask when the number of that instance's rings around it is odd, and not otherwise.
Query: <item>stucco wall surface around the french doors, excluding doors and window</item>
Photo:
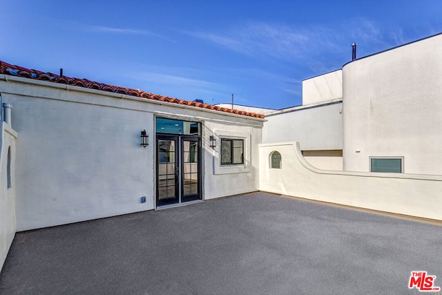
[[[258,189],[258,151],[247,173],[213,174],[211,129],[236,122],[260,141],[263,120],[19,77],[0,81],[13,104],[17,144],[17,231],[155,207],[155,116],[202,122],[204,198]],[[206,127],[207,126],[207,127]],[[146,129],[150,145],[140,146]],[[206,130],[207,129],[207,130]],[[251,150],[256,150],[255,147]],[[236,187],[236,182],[241,186]],[[147,202],[141,203],[140,197]]]

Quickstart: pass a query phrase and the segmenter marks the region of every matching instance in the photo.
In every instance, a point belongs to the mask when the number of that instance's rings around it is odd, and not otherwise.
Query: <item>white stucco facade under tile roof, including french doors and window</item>
[[[0,92],[19,134],[17,231],[258,190],[258,115],[6,75]]]

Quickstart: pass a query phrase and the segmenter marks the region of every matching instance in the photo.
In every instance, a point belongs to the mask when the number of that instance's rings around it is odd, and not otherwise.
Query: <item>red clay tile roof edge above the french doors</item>
[[[237,115],[244,115],[249,117],[257,117],[263,119],[265,115],[260,115],[257,113],[250,113],[246,111],[236,110],[234,108],[221,108],[219,106],[212,106],[211,104],[203,104],[200,102],[189,102],[184,99],[177,99],[173,97],[168,97],[164,95],[157,95],[153,93],[148,93],[145,91],[140,91],[139,89],[126,88],[122,86],[114,86],[109,84],[103,84],[99,82],[90,81],[88,79],[77,79],[70,78],[66,76],[60,76],[52,73],[44,73],[39,70],[30,70],[28,68],[22,68],[21,66],[13,66],[4,61],[0,61],[0,74],[12,75],[17,77],[25,77],[29,79],[43,80],[59,84],[68,84],[73,86],[79,86],[83,88],[92,88],[101,91],[108,91],[112,93],[121,93],[126,95],[133,95],[136,97],[141,97],[145,99],[160,100],[162,102],[170,102],[172,104],[184,104],[186,106],[196,106],[200,108],[209,108],[215,111],[221,111],[225,113],[233,113]]]

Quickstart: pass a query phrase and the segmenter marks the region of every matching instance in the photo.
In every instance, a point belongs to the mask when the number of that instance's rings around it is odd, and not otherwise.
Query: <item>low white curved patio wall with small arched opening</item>
[[[282,169],[269,169],[273,151],[281,154]],[[294,142],[260,145],[260,190],[442,220],[442,176],[318,170]]]

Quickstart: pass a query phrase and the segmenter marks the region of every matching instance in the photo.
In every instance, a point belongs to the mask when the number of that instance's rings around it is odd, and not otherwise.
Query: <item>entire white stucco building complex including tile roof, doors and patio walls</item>
[[[253,191],[442,220],[440,48],[356,59],[278,111],[0,61],[0,267],[16,231]]]

